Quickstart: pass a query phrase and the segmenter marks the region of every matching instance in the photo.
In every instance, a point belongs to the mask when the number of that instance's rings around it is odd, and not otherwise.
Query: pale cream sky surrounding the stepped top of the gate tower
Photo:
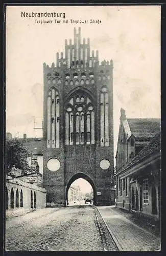
[[[52,24],[35,24],[22,12],[65,13]],[[60,20],[55,24],[54,19]],[[88,24],[71,24],[88,20]],[[101,24],[90,24],[100,19]],[[64,40],[90,38],[99,60],[113,60],[114,156],[120,109],[130,118],[160,117],[160,6],[8,6],[6,16],[6,132],[34,137],[43,119],[43,62],[56,62]],[[36,130],[41,137],[42,130]]]

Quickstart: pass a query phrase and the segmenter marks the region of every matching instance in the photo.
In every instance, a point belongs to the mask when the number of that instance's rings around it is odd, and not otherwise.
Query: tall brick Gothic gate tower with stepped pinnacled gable
[[[56,67],[43,64],[43,185],[47,202],[65,206],[78,178],[92,188],[94,204],[114,204],[112,60],[99,63],[81,28],[65,40]]]

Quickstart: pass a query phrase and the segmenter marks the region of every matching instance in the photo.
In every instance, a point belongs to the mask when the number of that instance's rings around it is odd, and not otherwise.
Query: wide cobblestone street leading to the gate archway
[[[96,207],[45,208],[6,221],[6,250],[115,251]]]

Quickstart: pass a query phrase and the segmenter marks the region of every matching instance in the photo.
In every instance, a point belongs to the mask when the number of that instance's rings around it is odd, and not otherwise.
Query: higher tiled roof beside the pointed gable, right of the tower
[[[136,146],[147,145],[160,131],[160,118],[127,118]]]

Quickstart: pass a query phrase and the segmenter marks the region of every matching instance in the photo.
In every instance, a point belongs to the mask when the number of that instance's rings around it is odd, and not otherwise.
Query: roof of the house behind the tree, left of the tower
[[[23,145],[34,155],[42,155],[43,139],[42,138],[27,138],[22,139]]]

